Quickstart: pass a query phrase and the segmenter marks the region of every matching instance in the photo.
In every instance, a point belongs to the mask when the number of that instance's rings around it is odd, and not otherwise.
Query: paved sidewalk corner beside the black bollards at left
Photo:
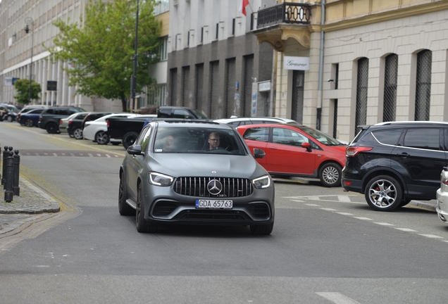
[[[58,213],[61,210],[58,201],[21,176],[19,186],[20,196],[13,196],[13,201],[6,203],[4,185],[1,185],[0,235],[39,219],[44,213]]]

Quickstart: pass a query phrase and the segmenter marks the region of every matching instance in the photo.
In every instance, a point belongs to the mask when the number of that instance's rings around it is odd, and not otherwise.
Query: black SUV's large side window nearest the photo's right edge
[[[403,145],[411,148],[440,150],[440,129],[408,129]]]

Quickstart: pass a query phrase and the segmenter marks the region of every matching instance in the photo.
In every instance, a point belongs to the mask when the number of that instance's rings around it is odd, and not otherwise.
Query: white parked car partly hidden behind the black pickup
[[[82,136],[85,139],[89,139],[91,141],[96,141],[97,144],[108,144],[109,141],[113,145],[118,145],[121,143],[120,139],[109,139],[107,132],[107,122],[106,119],[111,117],[122,117],[122,118],[130,118],[137,116],[138,114],[132,113],[113,113],[110,115],[103,116],[98,118],[97,120],[92,120],[85,122],[84,129],[82,129]]]

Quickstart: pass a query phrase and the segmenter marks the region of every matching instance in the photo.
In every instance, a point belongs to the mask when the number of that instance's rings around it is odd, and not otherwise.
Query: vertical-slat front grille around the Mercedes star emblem
[[[212,195],[207,190],[207,184],[217,179],[223,184],[223,190],[218,195]],[[179,177],[174,185],[177,194],[208,198],[233,198],[249,196],[254,188],[249,179],[232,177]]]

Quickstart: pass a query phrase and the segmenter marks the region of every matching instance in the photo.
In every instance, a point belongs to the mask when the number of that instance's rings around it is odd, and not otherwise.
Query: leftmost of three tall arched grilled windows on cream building
[[[359,125],[366,125],[367,88],[368,88],[368,58],[361,58],[358,61],[358,78],[356,83],[355,134],[358,132]]]

